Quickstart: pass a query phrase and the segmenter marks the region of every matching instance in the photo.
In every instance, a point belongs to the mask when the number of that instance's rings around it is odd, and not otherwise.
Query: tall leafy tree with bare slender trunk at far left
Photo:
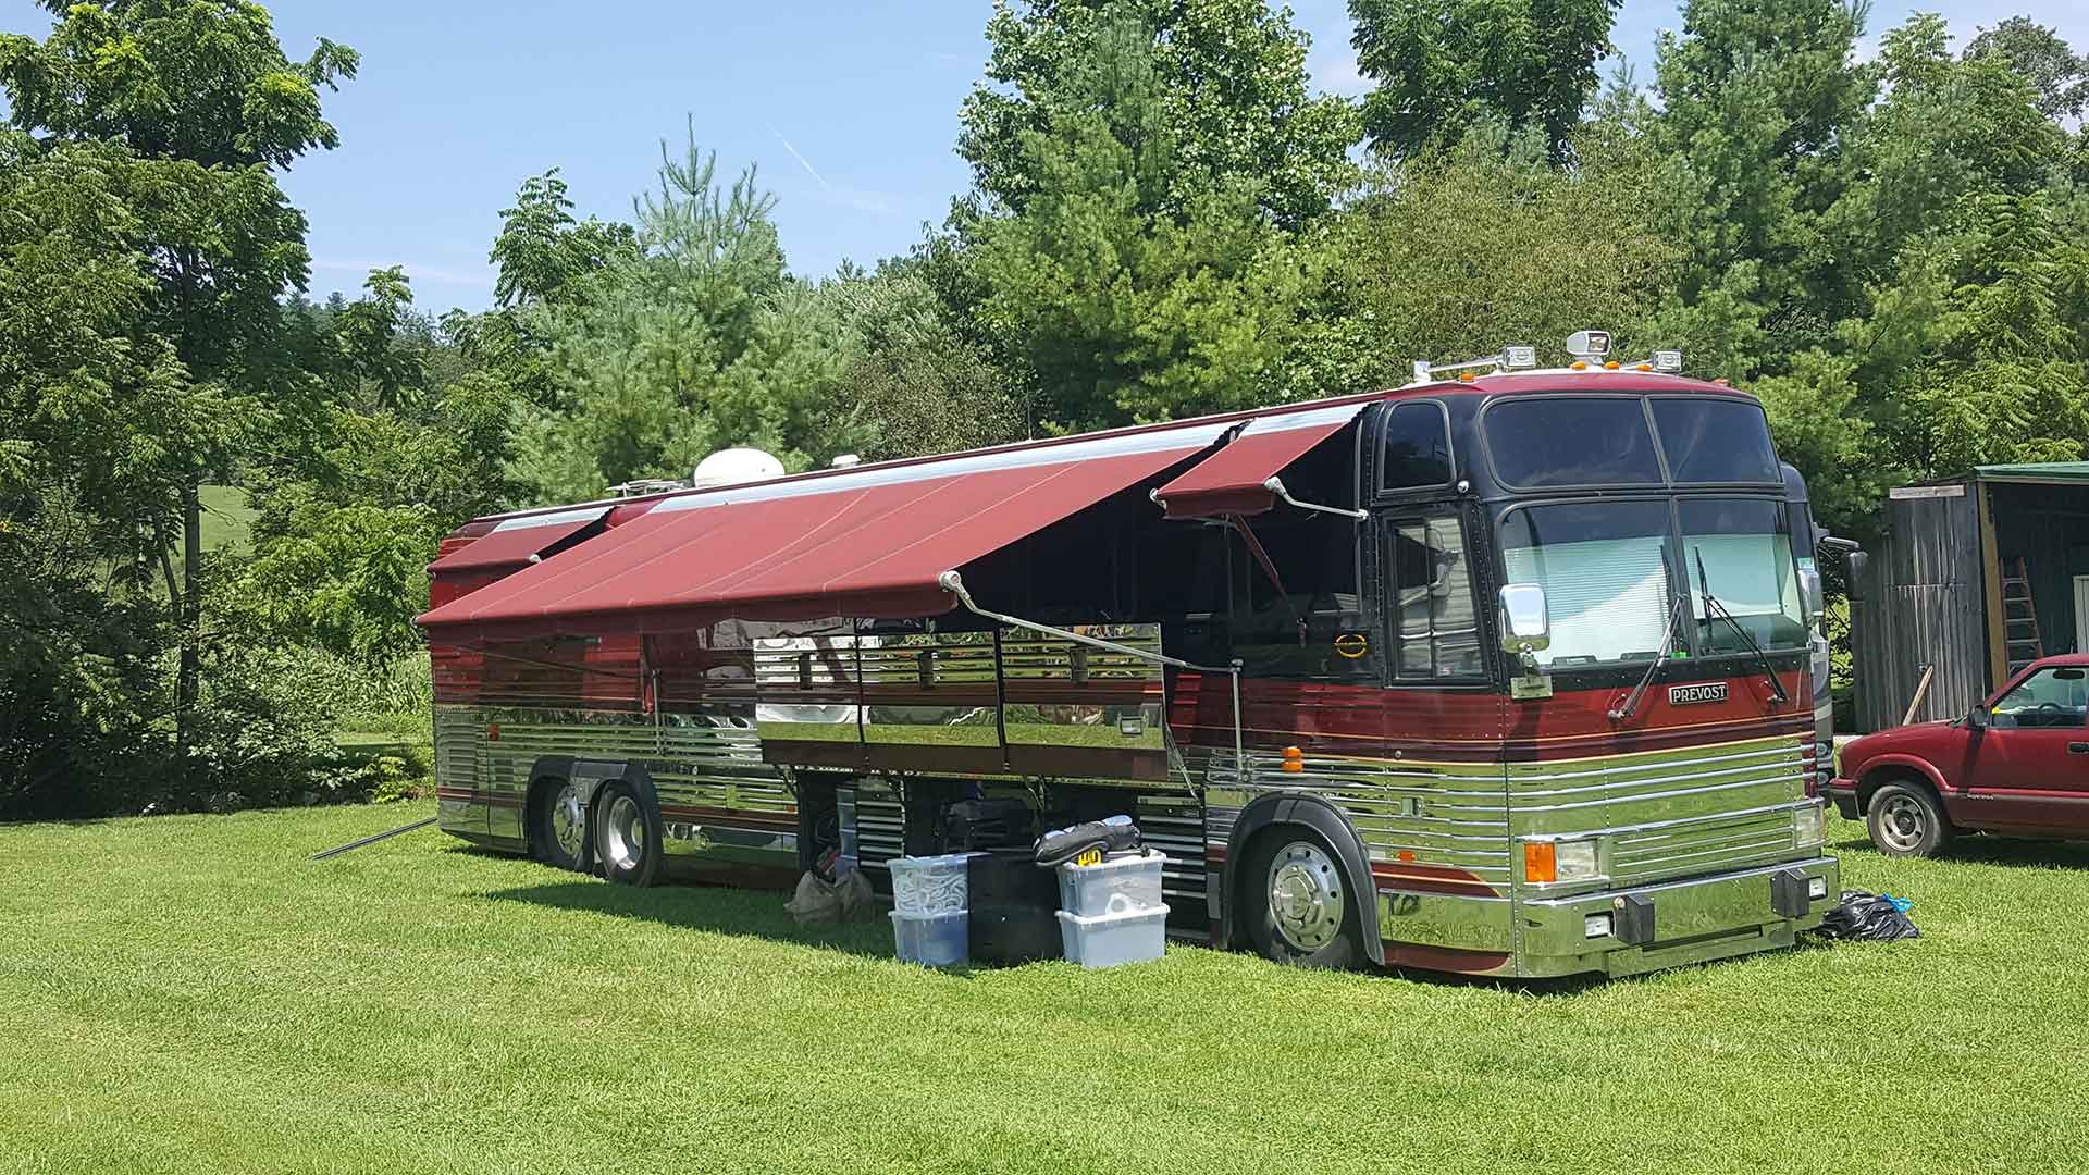
[[[244,0],[46,0],[58,21],[44,42],[0,38],[0,86],[10,119],[48,144],[109,142],[140,167],[150,209],[142,251],[152,328],[186,370],[167,420],[140,420],[161,454],[140,483],[161,496],[155,525],[182,535],[182,581],[169,575],[180,631],[175,742],[201,686],[203,512],[198,491],[230,473],[253,429],[305,406],[284,393],[309,387],[276,360],[278,295],[303,289],[305,217],[276,186],[313,146],[332,146],[320,86],[355,75],[355,52],[322,40],[290,63],[267,10]],[[157,433],[155,433],[157,427]]]

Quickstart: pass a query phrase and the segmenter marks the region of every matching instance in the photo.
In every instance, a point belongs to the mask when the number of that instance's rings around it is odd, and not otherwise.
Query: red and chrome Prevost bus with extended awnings
[[[420,619],[441,826],[783,886],[1019,797],[1132,815],[1170,930],[1274,960],[1786,947],[1838,891],[1813,552],[1761,406],[1604,343],[466,523]]]

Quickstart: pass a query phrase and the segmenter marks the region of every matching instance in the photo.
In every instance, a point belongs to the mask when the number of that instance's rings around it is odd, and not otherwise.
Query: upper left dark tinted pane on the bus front
[[[1661,485],[1638,399],[1504,399],[1487,408],[1485,422],[1504,485]]]

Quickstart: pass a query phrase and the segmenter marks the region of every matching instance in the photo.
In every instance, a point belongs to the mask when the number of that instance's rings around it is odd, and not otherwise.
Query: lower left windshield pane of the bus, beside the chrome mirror
[[[1508,583],[1546,590],[1552,669],[1650,661],[1669,621],[1667,502],[1521,506],[1502,519]],[[1786,556],[1790,562],[1790,556]]]

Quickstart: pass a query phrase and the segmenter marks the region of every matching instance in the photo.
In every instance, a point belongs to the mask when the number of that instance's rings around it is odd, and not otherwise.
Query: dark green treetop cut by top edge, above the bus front
[[[1613,52],[1619,0],[1349,0],[1356,63],[1377,88],[1364,134],[1404,159],[1456,142],[1481,119],[1535,128],[1550,157],[1567,157],[1596,90],[1596,61]]]

